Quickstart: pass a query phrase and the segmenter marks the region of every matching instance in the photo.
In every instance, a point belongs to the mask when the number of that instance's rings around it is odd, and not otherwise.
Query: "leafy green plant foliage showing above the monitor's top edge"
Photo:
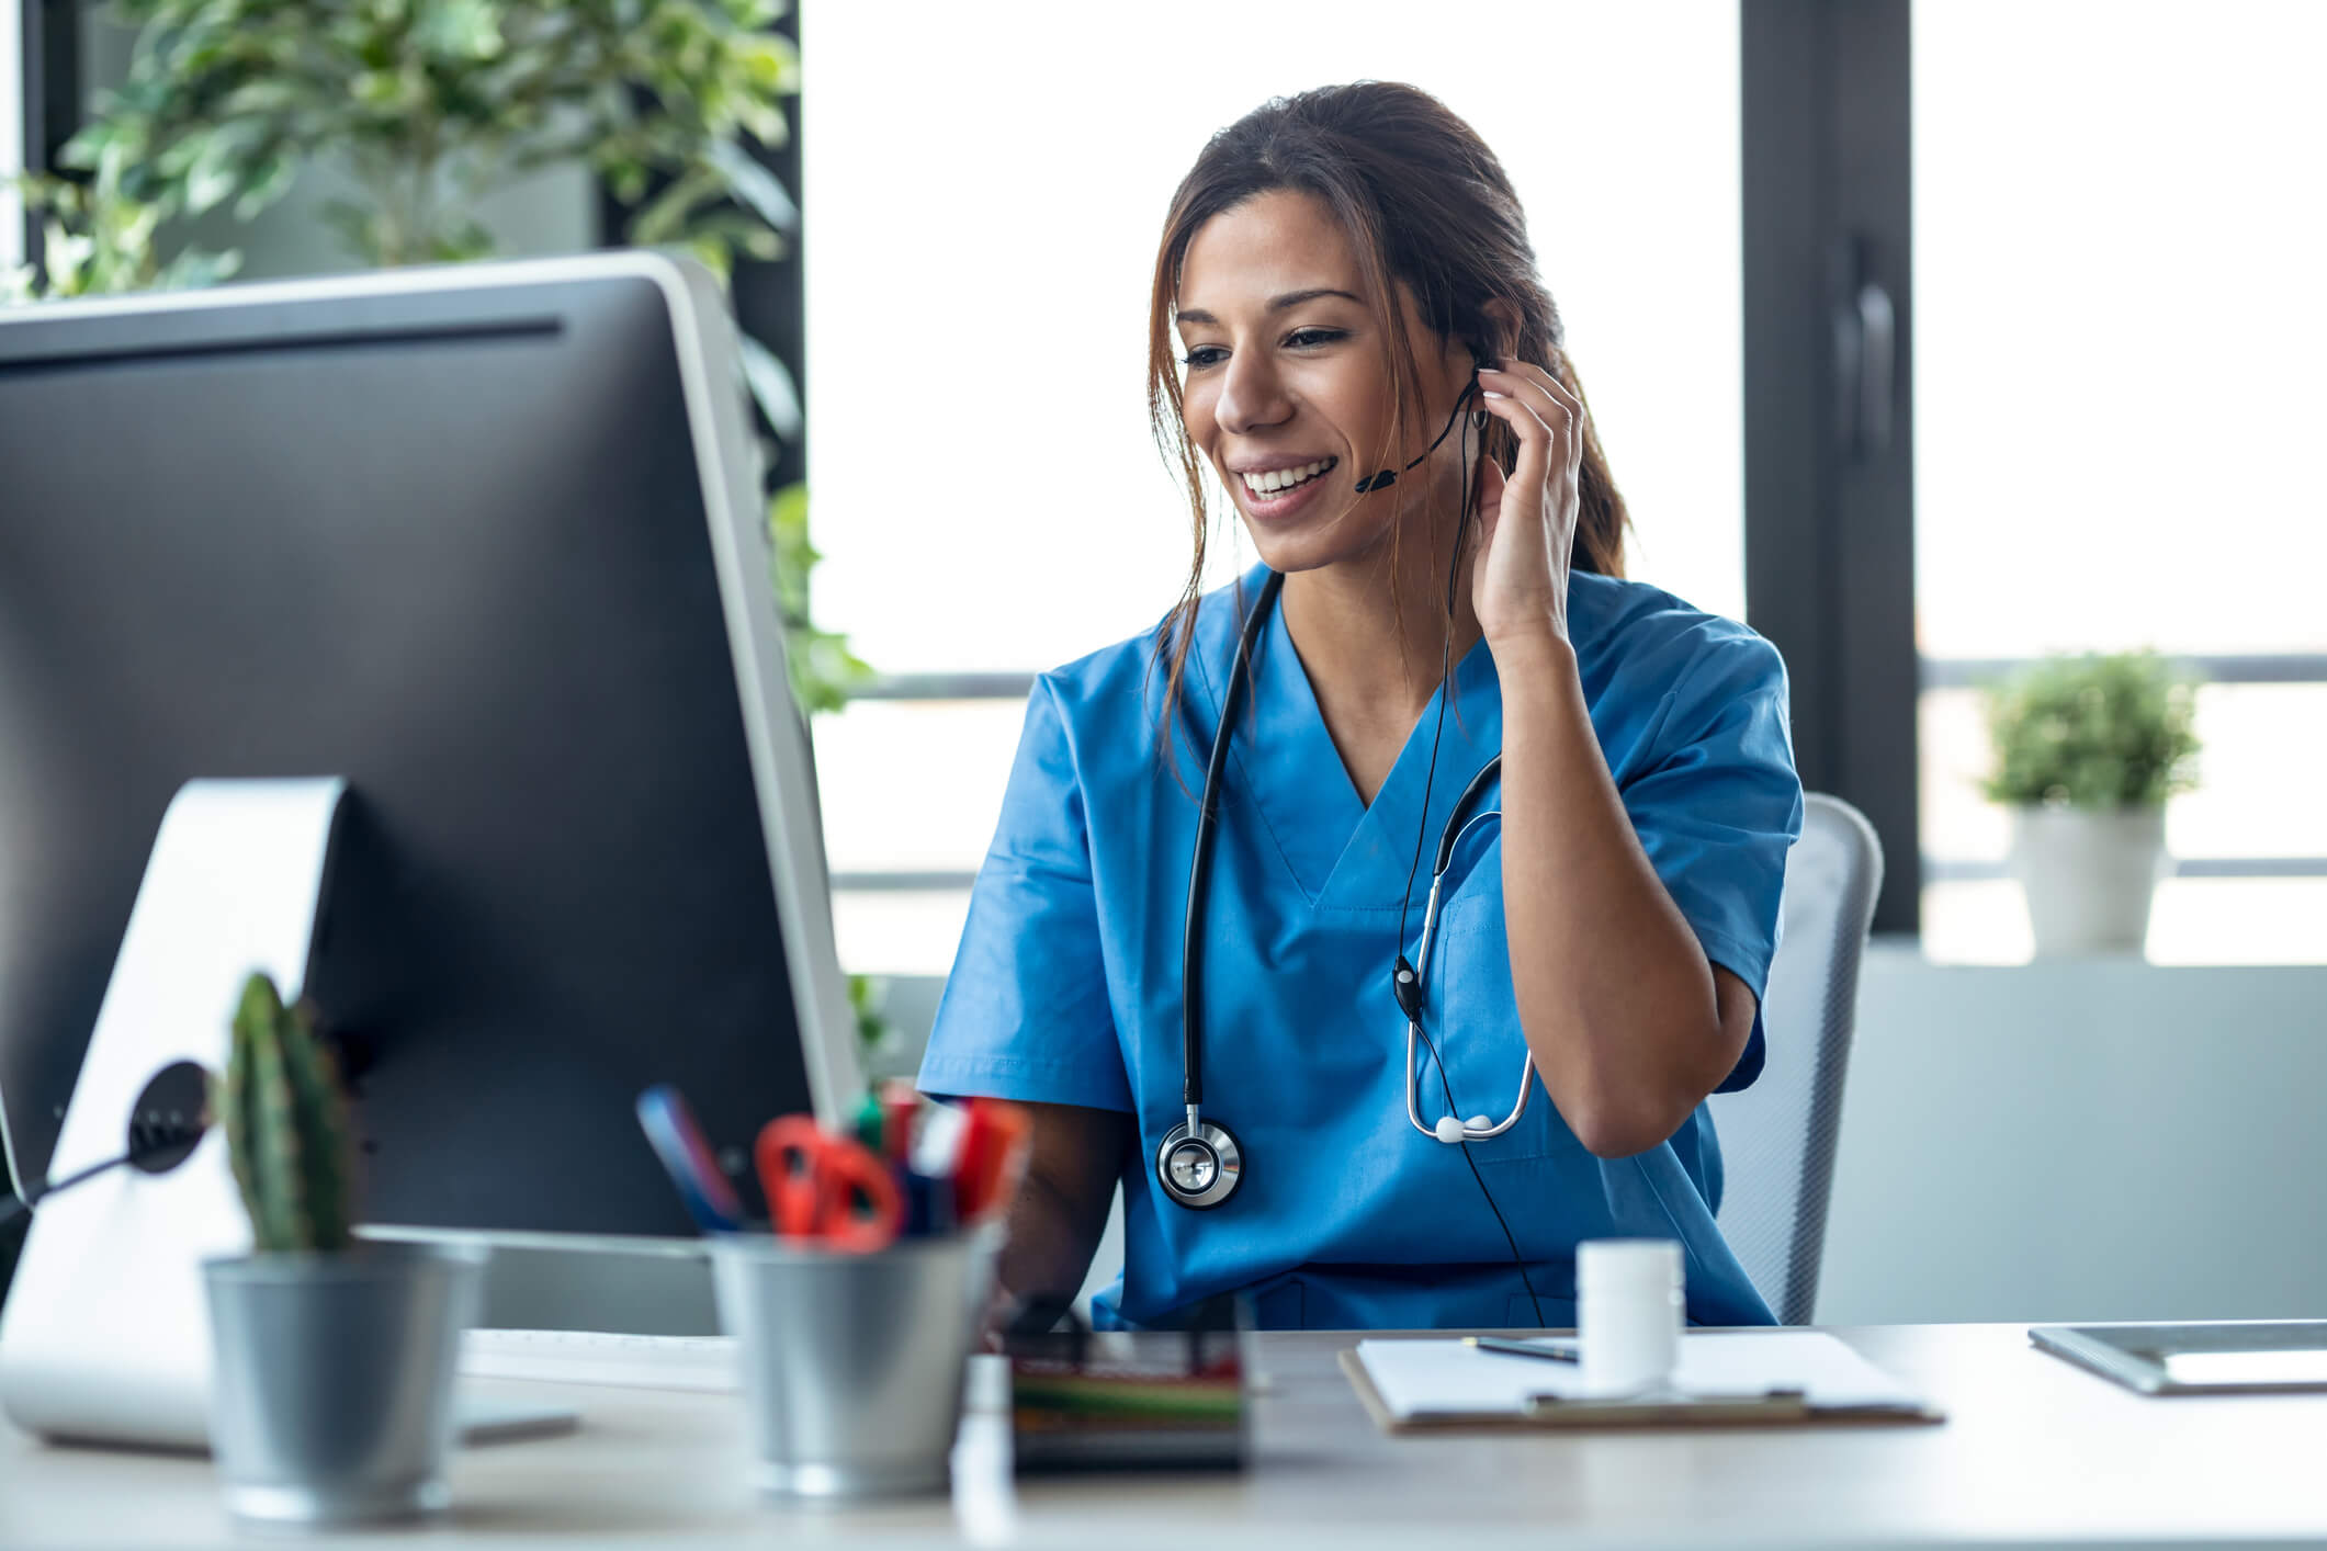
[[[249,221],[335,158],[361,200],[326,219],[372,265],[493,253],[475,205],[586,165],[633,207],[624,240],[679,246],[726,279],[798,228],[747,140],[782,146],[800,58],[787,0],[114,0],[137,28],[61,160],[163,221]],[[768,426],[800,435],[782,360],[742,339]]]

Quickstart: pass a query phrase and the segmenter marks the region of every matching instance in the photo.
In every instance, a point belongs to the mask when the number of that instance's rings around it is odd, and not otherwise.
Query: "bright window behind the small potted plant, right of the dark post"
[[[2027,958],[1978,677],[2155,646],[2199,693],[2159,963],[2327,960],[2327,9],[1913,12],[1924,949]]]

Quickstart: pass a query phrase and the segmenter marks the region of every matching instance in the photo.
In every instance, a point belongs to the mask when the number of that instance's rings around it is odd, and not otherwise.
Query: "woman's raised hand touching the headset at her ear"
[[[1508,479],[1494,458],[1480,460],[1471,607],[1489,651],[1545,632],[1566,642],[1585,407],[1527,360],[1480,367],[1478,386],[1480,405],[1520,437],[1520,460]]]

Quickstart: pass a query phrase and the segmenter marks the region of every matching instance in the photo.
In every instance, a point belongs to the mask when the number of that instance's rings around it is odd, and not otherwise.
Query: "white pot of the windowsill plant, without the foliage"
[[[2166,874],[2166,809],[2015,807],[2011,872],[2029,900],[2036,956],[2139,953]]]

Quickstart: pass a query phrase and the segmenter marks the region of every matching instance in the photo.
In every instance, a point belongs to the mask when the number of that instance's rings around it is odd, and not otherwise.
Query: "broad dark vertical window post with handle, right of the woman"
[[[1922,893],[1908,42],[1908,0],[1738,2],[1745,619],[1883,837],[1878,932]]]

